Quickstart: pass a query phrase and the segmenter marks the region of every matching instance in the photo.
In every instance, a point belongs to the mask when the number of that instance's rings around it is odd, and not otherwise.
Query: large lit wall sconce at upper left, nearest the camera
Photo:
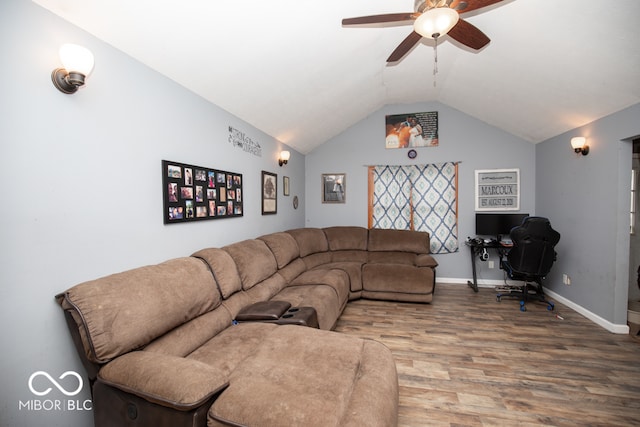
[[[60,46],[59,55],[64,68],[56,68],[51,73],[53,85],[60,92],[75,93],[93,70],[93,54],[89,49],[77,44],[63,44]]]

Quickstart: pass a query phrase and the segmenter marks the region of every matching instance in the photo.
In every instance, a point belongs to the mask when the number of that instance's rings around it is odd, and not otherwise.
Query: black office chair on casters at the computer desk
[[[524,284],[506,293],[498,293],[497,300],[502,297],[520,298],[520,311],[526,311],[526,302],[535,299],[545,302],[547,309],[553,310],[553,302],[547,301],[542,290],[542,281],[556,260],[555,246],[560,241],[560,233],[551,228],[547,218],[530,216],[509,234],[513,247],[506,259],[500,256],[500,265],[510,279]]]

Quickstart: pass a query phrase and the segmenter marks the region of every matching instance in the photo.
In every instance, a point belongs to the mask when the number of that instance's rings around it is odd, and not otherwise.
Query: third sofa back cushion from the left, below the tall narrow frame
[[[273,253],[262,240],[244,240],[225,246],[223,249],[236,263],[244,290],[251,289],[278,270]]]

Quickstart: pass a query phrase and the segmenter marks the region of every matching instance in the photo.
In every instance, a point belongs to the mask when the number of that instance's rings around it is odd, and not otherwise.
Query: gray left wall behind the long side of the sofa
[[[278,167],[284,147],[273,138],[32,2],[3,0],[0,17],[0,425],[88,426],[90,411],[66,406],[90,406],[88,385],[67,398],[39,375],[34,389],[52,391],[38,397],[28,388],[37,371],[67,389],[77,383],[60,375],[84,375],[54,295],[203,247],[304,226],[304,156],[292,150],[289,164]],[[50,79],[63,42],[96,58],[75,95]],[[258,141],[262,156],[229,144],[228,126]],[[163,225],[162,159],[242,173],[244,217]],[[277,173],[279,185],[282,174],[291,178],[290,197],[279,188],[277,215],[260,213],[261,170]],[[29,410],[34,399],[50,401],[45,407],[61,401],[65,410]]]

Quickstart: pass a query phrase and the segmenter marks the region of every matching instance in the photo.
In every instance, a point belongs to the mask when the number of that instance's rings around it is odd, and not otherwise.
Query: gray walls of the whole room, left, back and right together
[[[88,386],[73,398],[38,376],[46,371],[67,389],[65,371],[83,373],[53,296],[75,283],[187,255],[205,246],[302,226],[367,224],[365,165],[460,161],[460,252],[437,256],[439,277],[466,280],[471,268],[462,241],[474,234],[474,170],[521,170],[522,211],[549,216],[562,233],[548,285],[614,323],[625,323],[628,279],[630,144],[640,134],[640,105],[534,146],[439,103],[387,106],[309,155],[292,150],[284,168],[281,144],[250,124],[67,24],[31,2],[0,2],[0,425],[87,426]],[[50,81],[57,49],[76,42],[96,56],[96,69],[79,93],[58,92]],[[384,116],[440,113],[441,144],[418,150],[384,149]],[[233,148],[228,126],[263,147],[262,157]],[[586,131],[591,153],[576,158],[568,140]],[[160,161],[175,160],[244,175],[245,216],[164,226]],[[627,164],[628,159],[628,164]],[[278,214],[260,215],[260,171],[291,177],[291,197],[279,191]],[[320,175],[347,174],[347,203],[320,203]],[[300,208],[291,207],[293,195]],[[306,215],[306,216],[305,216]],[[305,222],[306,218],[306,222]],[[625,256],[626,255],[626,256]],[[480,279],[501,279],[481,265]],[[572,277],[560,285],[561,274]],[[44,407],[39,410],[33,401]],[[46,403],[49,401],[49,403]],[[60,401],[64,410],[47,410]],[[71,402],[71,403],[70,403]],[[29,406],[31,405],[31,406]],[[69,409],[69,405],[75,408]],[[78,406],[80,408],[78,408]]]

